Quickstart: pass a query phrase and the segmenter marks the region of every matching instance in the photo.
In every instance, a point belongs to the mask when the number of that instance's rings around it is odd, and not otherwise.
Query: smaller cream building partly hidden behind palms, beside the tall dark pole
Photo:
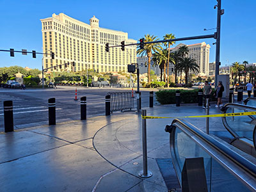
[[[185,44],[179,44],[176,47],[171,48],[171,51],[178,51],[179,47],[183,45]],[[193,58],[199,66],[199,72],[193,72],[193,74],[204,74],[204,76],[209,76],[209,55],[211,46],[209,44],[205,44],[205,42],[186,46],[188,46],[189,49],[188,57]]]

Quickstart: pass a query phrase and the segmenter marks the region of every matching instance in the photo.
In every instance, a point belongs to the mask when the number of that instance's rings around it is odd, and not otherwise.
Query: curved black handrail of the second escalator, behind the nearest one
[[[256,107],[253,107],[253,106],[246,106],[244,104],[237,104],[237,103],[227,103],[223,107],[222,113],[226,113],[227,109],[229,107],[233,107],[233,108],[237,108],[237,109],[243,109],[243,110],[248,110],[249,109],[251,111],[256,111]],[[252,115],[248,115],[248,116],[250,116],[250,118],[254,118]],[[226,116],[222,116],[221,119],[222,119],[223,125],[225,126],[227,131],[230,132],[230,134],[232,134],[232,136],[234,136],[234,138],[239,138],[239,135],[236,134],[236,131],[233,131],[233,129],[227,124]]]

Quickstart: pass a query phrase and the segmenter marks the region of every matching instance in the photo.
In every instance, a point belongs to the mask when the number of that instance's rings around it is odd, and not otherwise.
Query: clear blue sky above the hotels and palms
[[[185,36],[208,35],[216,28],[216,0],[176,0],[176,1],[18,1],[0,0],[0,49],[42,52],[42,32],[40,19],[61,12],[77,20],[89,23],[95,15],[100,27],[127,32],[129,38],[140,39],[145,34],[156,35],[160,39],[166,33],[177,38]],[[256,62],[255,0],[222,0],[221,8],[221,65],[234,61]],[[184,44],[205,41],[211,45],[210,62],[215,60],[213,39],[191,40]],[[179,44],[180,42],[177,42]],[[42,56],[33,59],[31,54],[22,56],[15,53],[0,52],[0,67],[19,65],[41,68]]]

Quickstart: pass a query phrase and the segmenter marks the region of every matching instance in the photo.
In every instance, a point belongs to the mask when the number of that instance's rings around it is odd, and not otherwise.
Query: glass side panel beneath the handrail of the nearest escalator
[[[205,176],[208,191],[250,191],[234,175],[228,172],[220,163],[213,159],[203,148],[195,143],[178,127],[175,130],[173,143],[175,168],[181,181],[181,172],[186,158],[204,157]]]

